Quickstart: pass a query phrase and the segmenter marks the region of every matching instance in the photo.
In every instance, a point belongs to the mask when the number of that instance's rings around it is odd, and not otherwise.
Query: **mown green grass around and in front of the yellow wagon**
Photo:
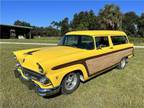
[[[12,52],[32,45],[1,45],[0,104],[2,108],[144,108],[144,49],[136,49],[124,70],[96,77],[70,95],[38,96],[14,77]]]

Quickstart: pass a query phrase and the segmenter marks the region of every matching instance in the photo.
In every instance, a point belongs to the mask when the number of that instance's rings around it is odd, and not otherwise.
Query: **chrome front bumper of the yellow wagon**
[[[25,84],[30,90],[35,90],[36,93],[40,96],[51,96],[60,91],[60,87],[54,87],[50,89],[43,89],[39,85],[37,85],[34,81],[31,79],[26,79],[22,77],[21,73],[19,70],[16,68],[14,70],[14,74],[16,78],[19,78],[23,84]]]

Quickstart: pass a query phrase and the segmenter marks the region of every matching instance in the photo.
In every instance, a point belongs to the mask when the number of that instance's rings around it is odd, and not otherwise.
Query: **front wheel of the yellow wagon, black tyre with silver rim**
[[[69,73],[62,81],[61,92],[62,94],[70,94],[75,91],[80,84],[79,73]]]

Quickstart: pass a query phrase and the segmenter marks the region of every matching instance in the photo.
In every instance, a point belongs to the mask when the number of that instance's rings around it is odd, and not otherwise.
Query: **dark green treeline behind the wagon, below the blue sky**
[[[31,26],[24,21],[15,21],[15,25]],[[53,21],[50,26],[33,26],[32,35],[36,36],[62,36],[73,30],[123,30],[129,36],[144,37],[144,13],[141,16],[135,12],[122,14],[120,8],[114,4],[106,4],[100,9],[98,16],[93,10],[75,13],[69,21],[66,17],[61,21]]]

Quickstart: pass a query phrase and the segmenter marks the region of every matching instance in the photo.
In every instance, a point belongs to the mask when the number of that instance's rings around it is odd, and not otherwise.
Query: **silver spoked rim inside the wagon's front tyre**
[[[75,73],[72,73],[72,74],[69,74],[67,77],[66,77],[66,81],[65,81],[65,88],[67,90],[72,90],[76,84],[77,84],[77,76]]]

